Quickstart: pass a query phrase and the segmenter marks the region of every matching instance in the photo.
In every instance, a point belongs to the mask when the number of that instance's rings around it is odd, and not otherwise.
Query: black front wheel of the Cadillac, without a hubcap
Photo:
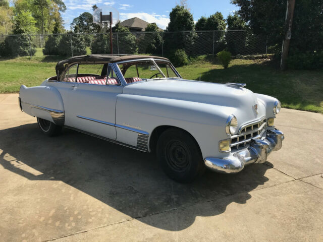
[[[180,183],[189,183],[205,170],[196,141],[179,129],[169,129],[160,135],[156,154],[165,173]]]

